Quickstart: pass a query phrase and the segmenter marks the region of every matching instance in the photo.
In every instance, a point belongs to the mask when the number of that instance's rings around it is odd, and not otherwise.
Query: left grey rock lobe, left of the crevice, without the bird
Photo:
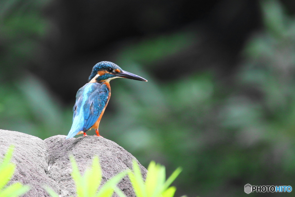
[[[9,184],[21,182],[30,185],[31,190],[24,196],[49,196],[43,186],[57,188],[58,185],[46,174],[49,155],[44,141],[25,133],[0,130],[1,158],[12,144],[15,146],[12,162],[17,167]]]

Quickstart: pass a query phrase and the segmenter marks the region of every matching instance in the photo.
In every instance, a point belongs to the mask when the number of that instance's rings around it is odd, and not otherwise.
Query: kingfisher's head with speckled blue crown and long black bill
[[[117,64],[114,64],[109,61],[101,61],[97,63],[93,67],[88,81],[89,82],[109,82],[110,80],[115,78],[127,78],[127,79],[135,79],[138,81],[147,82],[146,79],[143,79],[142,77],[132,74],[130,72],[123,71]]]

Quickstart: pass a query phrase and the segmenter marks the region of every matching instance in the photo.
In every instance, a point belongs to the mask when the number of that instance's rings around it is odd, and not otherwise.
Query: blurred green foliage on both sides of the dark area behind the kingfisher
[[[59,105],[45,82],[27,71],[38,65],[39,40],[48,28],[39,12],[46,2],[29,2],[0,6],[0,128],[42,139],[66,135],[71,107]],[[182,166],[180,195],[243,196],[247,183],[294,186],[295,19],[278,1],[262,1],[261,10],[264,28],[249,38],[230,80],[205,70],[160,82],[144,71],[190,48],[196,32],[146,38],[118,51],[115,63],[148,82],[111,82],[115,111],[106,110],[101,134],[144,166],[150,160],[168,172]]]

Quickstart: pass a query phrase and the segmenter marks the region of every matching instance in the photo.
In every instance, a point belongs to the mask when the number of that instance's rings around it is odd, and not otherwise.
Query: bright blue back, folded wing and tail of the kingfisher
[[[109,89],[105,84],[87,83],[81,87],[76,95],[73,124],[66,139],[75,136],[79,131],[89,130],[106,106],[108,97]]]

